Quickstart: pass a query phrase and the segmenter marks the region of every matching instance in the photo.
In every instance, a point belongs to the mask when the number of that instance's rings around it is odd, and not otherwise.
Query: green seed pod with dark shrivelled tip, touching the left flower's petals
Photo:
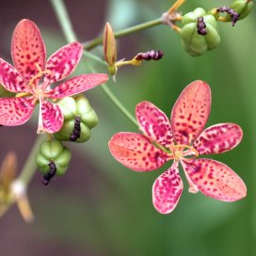
[[[57,102],[64,114],[64,123],[54,136],[57,140],[85,142],[90,137],[90,129],[98,123],[95,111],[82,95],[65,97]]]

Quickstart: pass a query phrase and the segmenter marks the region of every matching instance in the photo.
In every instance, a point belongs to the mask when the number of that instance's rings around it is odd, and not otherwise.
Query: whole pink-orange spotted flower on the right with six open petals
[[[216,200],[244,198],[247,187],[228,166],[200,155],[232,150],[242,139],[242,129],[234,123],[219,123],[203,131],[211,109],[211,89],[202,81],[184,88],[167,116],[150,102],[136,105],[136,119],[143,135],[118,133],[109,141],[113,156],[125,167],[136,171],[160,168],[174,160],[152,186],[152,202],[161,214],[176,207],[184,184],[179,163],[184,168],[189,191]]]

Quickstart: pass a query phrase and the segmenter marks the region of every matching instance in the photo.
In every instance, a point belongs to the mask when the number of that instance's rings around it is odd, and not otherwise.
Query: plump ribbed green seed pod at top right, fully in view
[[[205,25],[203,34],[200,34],[199,18]],[[196,8],[194,11],[184,15],[182,20],[183,28],[181,37],[184,50],[191,56],[201,56],[206,51],[210,51],[220,42],[216,18],[213,15],[207,15],[203,8]]]

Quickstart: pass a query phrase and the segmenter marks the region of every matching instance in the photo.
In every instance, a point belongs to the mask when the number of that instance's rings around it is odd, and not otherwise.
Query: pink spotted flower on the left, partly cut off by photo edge
[[[40,104],[38,133],[56,133],[63,124],[63,114],[55,100],[94,88],[107,80],[104,73],[75,76],[55,88],[51,85],[69,76],[83,54],[79,42],[65,45],[46,61],[44,42],[36,24],[22,20],[11,41],[14,67],[0,58],[0,84],[15,92],[14,98],[0,98],[0,124],[20,125],[29,120]]]

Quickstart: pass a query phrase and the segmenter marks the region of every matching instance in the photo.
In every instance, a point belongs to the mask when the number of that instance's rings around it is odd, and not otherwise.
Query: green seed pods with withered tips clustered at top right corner
[[[191,56],[201,56],[215,49],[220,42],[217,22],[232,22],[234,25],[248,16],[252,6],[251,0],[235,0],[230,7],[213,8],[210,11],[196,8],[184,14],[181,29],[184,50]],[[220,17],[221,12],[225,13],[224,17]]]

